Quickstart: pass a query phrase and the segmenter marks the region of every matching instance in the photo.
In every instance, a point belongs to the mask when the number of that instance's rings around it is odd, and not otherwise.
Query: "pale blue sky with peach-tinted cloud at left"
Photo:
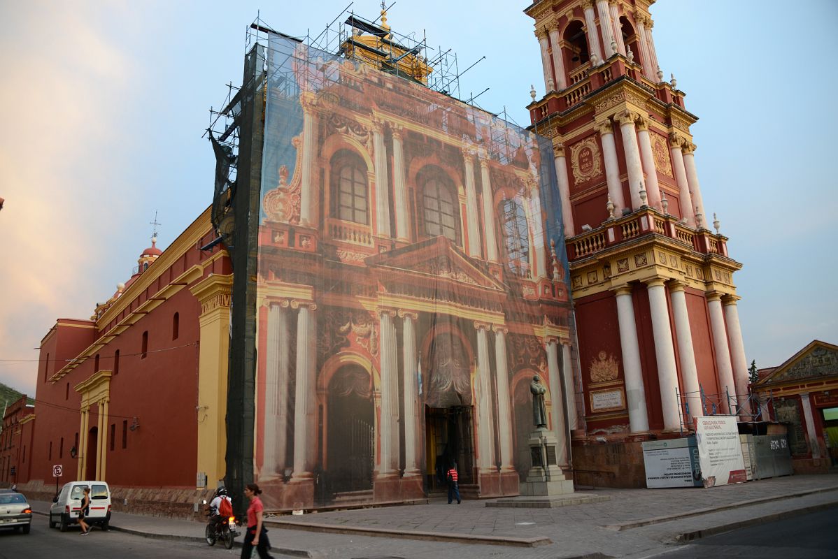
[[[452,49],[460,96],[529,124],[544,80],[530,3],[398,0],[401,33]],[[150,245],[165,248],[211,202],[210,107],[241,81],[260,16],[317,35],[349,0],[0,0],[0,382],[34,395],[38,346],[57,318],[88,318]],[[378,3],[351,10],[376,18]],[[813,339],[838,343],[838,72],[832,0],[658,0],[661,69],[675,74],[707,221],[734,275],[747,361],[773,367]],[[345,15],[341,19],[345,19]],[[789,24],[790,21],[796,23]]]

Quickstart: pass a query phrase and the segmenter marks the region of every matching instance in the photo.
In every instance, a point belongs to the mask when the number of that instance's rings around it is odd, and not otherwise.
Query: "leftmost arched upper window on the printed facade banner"
[[[363,159],[348,150],[332,157],[332,215],[354,223],[370,223],[367,204],[367,168]]]

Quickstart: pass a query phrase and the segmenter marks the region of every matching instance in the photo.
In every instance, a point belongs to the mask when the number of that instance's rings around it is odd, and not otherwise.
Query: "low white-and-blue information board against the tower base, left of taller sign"
[[[646,487],[701,487],[696,438],[671,438],[643,444]]]

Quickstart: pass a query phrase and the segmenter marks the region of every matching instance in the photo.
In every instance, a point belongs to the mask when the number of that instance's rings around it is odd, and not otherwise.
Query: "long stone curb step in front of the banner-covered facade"
[[[333,534],[350,534],[353,536],[389,537],[402,540],[446,541],[449,543],[478,544],[487,546],[538,547],[549,546],[553,543],[553,541],[546,536],[522,538],[511,536],[475,536],[473,534],[458,534],[456,532],[441,534],[438,532],[428,531],[404,531],[390,530],[387,528],[335,526],[333,524],[295,521],[266,521],[265,524],[266,526],[284,528],[286,530],[330,532]]]

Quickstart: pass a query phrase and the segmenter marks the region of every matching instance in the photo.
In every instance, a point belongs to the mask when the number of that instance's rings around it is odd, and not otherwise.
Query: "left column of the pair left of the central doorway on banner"
[[[389,476],[398,471],[399,461],[399,390],[398,363],[396,360],[396,326],[393,310],[379,310],[380,313],[380,376],[381,376],[381,417],[380,417],[380,463],[377,474]]]

